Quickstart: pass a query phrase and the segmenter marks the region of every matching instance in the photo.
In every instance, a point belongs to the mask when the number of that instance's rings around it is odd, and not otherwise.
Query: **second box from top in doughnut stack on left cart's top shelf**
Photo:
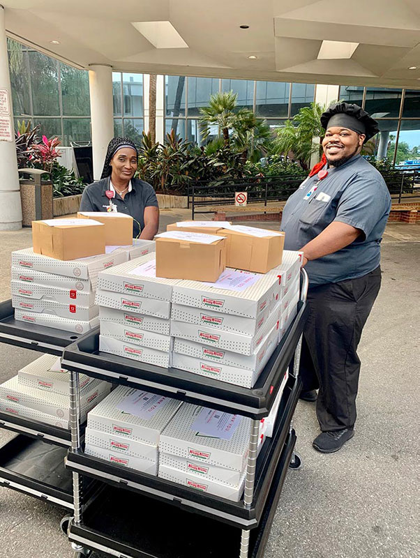
[[[89,293],[96,290],[98,278],[78,279],[66,277],[56,273],[44,273],[34,269],[22,269],[12,267],[12,281],[24,282],[25,285],[36,285],[43,287],[58,287],[59,289],[76,290],[77,293]],[[29,287],[30,288],[30,287]]]

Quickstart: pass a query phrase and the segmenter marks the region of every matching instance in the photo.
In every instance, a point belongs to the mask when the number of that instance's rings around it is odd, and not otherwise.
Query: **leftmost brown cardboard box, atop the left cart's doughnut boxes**
[[[32,221],[33,252],[56,259],[105,254],[104,229],[102,223],[85,225],[81,219]]]

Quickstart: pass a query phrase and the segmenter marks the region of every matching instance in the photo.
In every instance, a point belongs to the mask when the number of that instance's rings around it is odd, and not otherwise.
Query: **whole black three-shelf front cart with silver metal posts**
[[[308,278],[305,271],[302,274],[297,317],[253,389],[100,352],[97,331],[64,349],[62,365],[70,370],[72,434],[66,466],[73,471],[75,502],[68,536],[75,558],[87,556],[91,550],[117,558],[262,557],[285,474],[290,464],[297,468],[300,462],[294,454],[292,416],[301,391],[301,335],[308,315]],[[290,377],[273,437],[266,439],[257,458],[260,419],[269,414],[287,368]],[[85,454],[77,421],[79,372],[250,417],[243,499],[231,502]],[[82,510],[84,476],[104,485]]]

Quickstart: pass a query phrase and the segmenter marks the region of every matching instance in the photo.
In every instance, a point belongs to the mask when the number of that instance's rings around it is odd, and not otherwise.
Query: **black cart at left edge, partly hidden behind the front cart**
[[[11,301],[0,303],[0,342],[60,356],[80,335],[17,322]],[[31,418],[0,412],[0,428],[16,433],[0,446],[0,486],[52,502],[73,511],[73,476],[64,467],[70,430]],[[80,432],[81,437],[84,430]],[[85,497],[94,483],[85,485]]]

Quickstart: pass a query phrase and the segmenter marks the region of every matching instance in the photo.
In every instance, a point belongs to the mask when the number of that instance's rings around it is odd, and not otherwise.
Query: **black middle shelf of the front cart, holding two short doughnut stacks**
[[[276,470],[283,444],[290,432],[290,421],[300,391],[301,381],[290,377],[280,403],[273,437],[266,439],[257,459],[255,492],[253,504],[250,508],[243,506],[242,501],[232,502],[207,493],[203,494],[193,488],[184,487],[163,478],[137,472],[134,469],[126,469],[99,458],[93,458],[91,455],[82,453],[82,451],[68,454],[67,467],[80,474],[149,495],[187,511],[194,510],[202,515],[216,517],[222,522],[230,523],[230,525],[242,529],[252,529],[260,521],[273,472]]]

